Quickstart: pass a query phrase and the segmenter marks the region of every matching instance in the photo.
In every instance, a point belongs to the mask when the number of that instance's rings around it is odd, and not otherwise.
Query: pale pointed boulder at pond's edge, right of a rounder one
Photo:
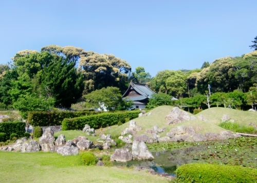
[[[148,150],[143,141],[140,143],[138,141],[134,141],[132,144],[132,157],[133,159],[154,159],[153,154]]]

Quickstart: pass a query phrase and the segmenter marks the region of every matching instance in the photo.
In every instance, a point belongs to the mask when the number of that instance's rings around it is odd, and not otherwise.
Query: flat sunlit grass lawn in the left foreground
[[[78,166],[79,156],[0,151],[1,182],[168,182],[127,168]]]

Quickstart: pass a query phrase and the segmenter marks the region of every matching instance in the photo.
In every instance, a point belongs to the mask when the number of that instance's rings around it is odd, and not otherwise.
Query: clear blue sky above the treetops
[[[20,50],[75,46],[152,76],[253,51],[257,1],[0,1],[0,64]]]

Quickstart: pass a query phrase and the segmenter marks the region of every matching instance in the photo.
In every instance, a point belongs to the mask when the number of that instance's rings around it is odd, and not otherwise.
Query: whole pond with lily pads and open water
[[[145,166],[158,173],[175,175],[177,167],[191,162],[240,165],[257,168],[257,138],[241,137],[206,142],[155,143],[148,145],[154,160],[113,162],[115,166]]]

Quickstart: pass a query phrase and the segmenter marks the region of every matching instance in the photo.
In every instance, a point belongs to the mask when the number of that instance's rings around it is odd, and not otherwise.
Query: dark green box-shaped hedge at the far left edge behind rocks
[[[6,137],[10,137],[12,133],[16,133],[19,137],[22,137],[25,132],[25,126],[25,122],[0,123],[0,132],[4,132]]]

